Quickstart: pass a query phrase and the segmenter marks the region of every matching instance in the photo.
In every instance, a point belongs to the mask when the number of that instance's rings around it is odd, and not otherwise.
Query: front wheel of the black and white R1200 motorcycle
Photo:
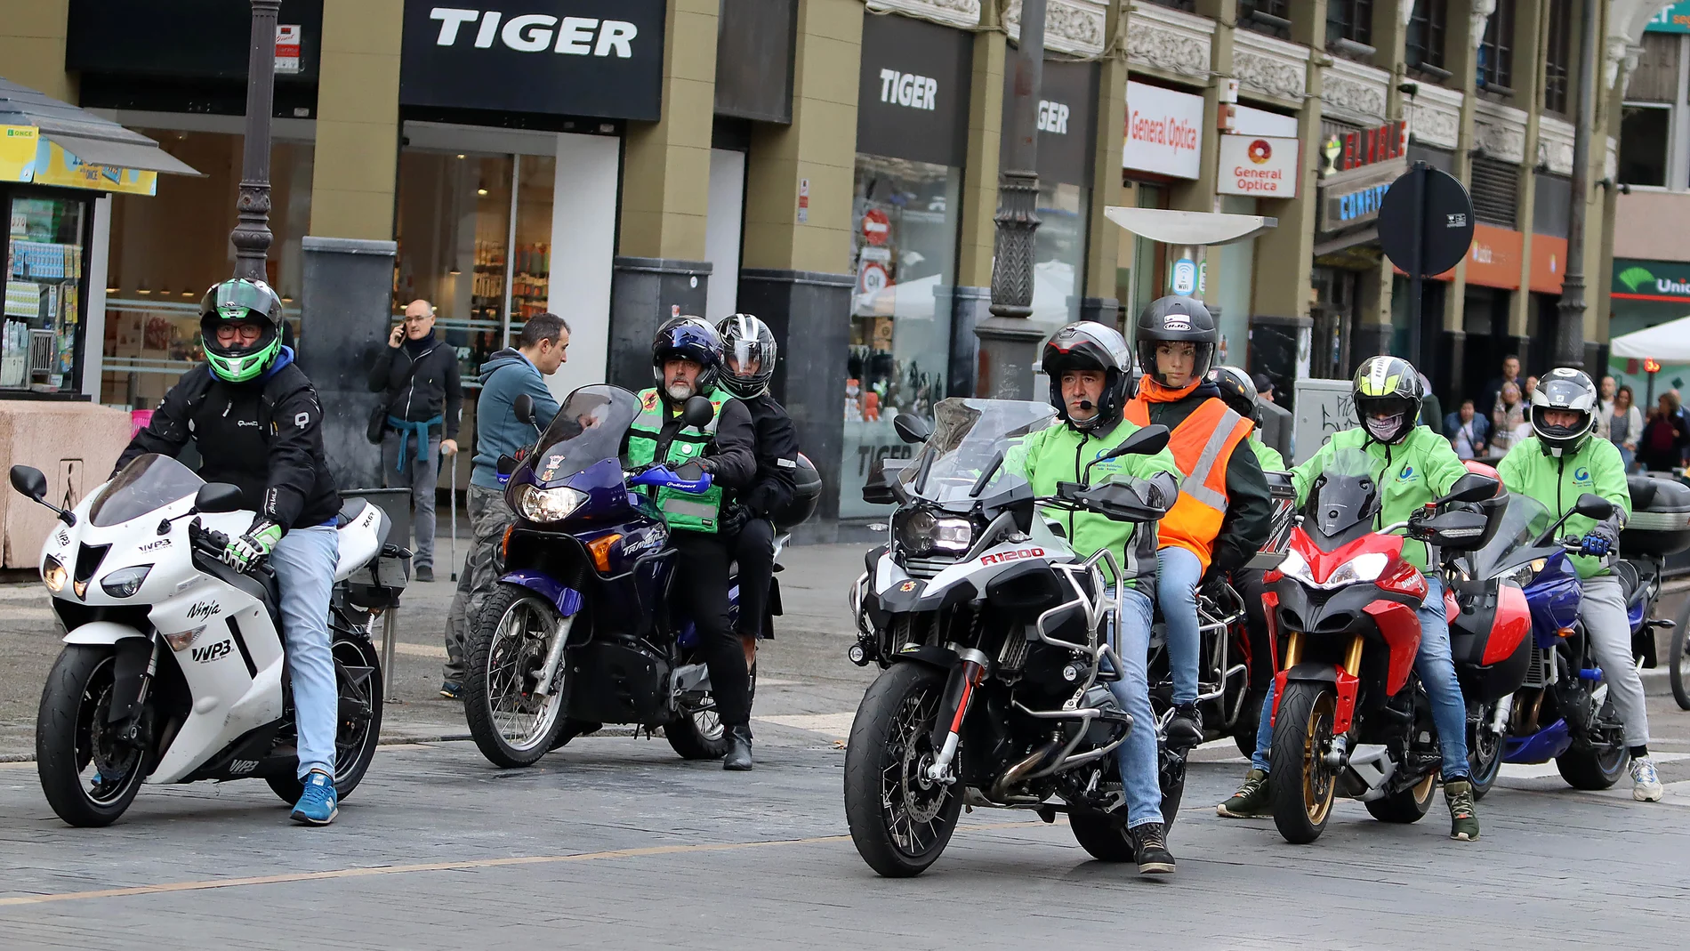
[[[962,784],[926,775],[943,693],[943,672],[894,664],[864,694],[850,728],[845,821],[862,860],[889,878],[924,872],[957,831]],[[958,750],[958,760],[962,755]],[[951,772],[962,772],[957,762]]]

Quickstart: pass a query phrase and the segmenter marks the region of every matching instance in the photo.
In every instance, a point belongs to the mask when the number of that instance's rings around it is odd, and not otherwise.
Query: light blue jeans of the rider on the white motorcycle
[[[299,726],[299,779],[319,769],[335,775],[335,730],[340,689],[330,652],[328,601],[335,591],[340,535],[330,525],[294,529],[275,542],[270,568],[282,603],[282,645],[294,679],[294,721]]]

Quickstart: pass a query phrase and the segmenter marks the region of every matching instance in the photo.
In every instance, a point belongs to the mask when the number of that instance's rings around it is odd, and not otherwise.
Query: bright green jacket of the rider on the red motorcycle
[[[1376,466],[1374,481],[1382,493],[1376,527],[1406,520],[1428,502],[1448,495],[1455,480],[1467,475],[1467,466],[1455,458],[1450,441],[1430,427],[1416,426],[1394,446],[1369,439],[1366,429],[1345,429],[1333,432],[1313,458],[1291,470],[1298,507],[1308,500],[1308,488],[1332,465],[1338,449],[1362,449]],[[1403,559],[1426,571],[1426,542],[1403,541]]]

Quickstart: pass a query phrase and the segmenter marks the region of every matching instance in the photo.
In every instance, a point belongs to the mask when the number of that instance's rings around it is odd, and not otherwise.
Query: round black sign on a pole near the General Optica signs
[[[1472,243],[1474,203],[1448,172],[1415,162],[1384,193],[1379,247],[1409,277],[1443,274],[1462,262]]]

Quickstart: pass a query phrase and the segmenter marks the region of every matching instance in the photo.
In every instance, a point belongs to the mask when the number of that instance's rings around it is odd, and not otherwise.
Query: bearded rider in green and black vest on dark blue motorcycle
[[[750,412],[718,389],[722,336],[700,318],[674,318],[657,328],[651,373],[657,385],[639,394],[641,414],[629,427],[627,461],[632,466],[661,461],[669,468],[693,463],[711,476],[701,495],[659,488],[656,500],[679,556],[673,591],[698,627],[717,718],[728,733],[722,769],[749,770],[750,674],[728,618],[732,557],[720,527],[723,490],[745,488],[757,475]],[[713,410],[703,427],[681,419],[681,407],[695,395],[708,399]]]

